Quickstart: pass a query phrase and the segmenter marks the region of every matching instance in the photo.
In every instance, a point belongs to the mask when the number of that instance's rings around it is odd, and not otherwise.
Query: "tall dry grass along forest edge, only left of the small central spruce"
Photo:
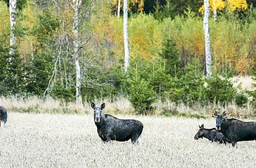
[[[114,102],[109,99],[95,101],[97,105],[100,105],[103,102],[108,104],[105,111],[110,113],[134,113],[134,108],[126,98],[120,97]],[[43,100],[36,96],[27,98],[20,96],[1,96],[0,104],[8,107],[8,110],[10,111],[20,113],[87,114],[92,109],[90,102],[87,101],[84,101],[82,105],[76,105],[75,102],[67,103],[65,101],[53,99],[52,97],[46,97],[46,99]]]

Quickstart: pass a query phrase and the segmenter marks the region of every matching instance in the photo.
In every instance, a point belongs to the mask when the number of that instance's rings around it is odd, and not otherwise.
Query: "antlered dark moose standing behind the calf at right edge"
[[[256,122],[227,119],[229,116],[226,116],[225,111],[222,115],[218,115],[217,111],[212,115],[212,117],[216,118],[216,130],[223,133],[228,143],[231,143],[234,147],[240,141],[256,140]]]

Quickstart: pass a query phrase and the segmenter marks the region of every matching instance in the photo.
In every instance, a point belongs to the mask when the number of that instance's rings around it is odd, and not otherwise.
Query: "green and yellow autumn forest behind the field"
[[[51,97],[86,105],[125,99],[133,107],[127,112],[145,115],[156,114],[160,107],[154,103],[170,102],[172,109],[160,110],[165,116],[185,116],[177,112],[181,104],[204,109],[204,115],[232,104],[237,114],[256,116],[255,1],[209,1],[211,77],[206,77],[204,1],[128,1],[127,71],[123,1],[77,2],[17,0],[12,27],[9,1],[0,1],[2,100]],[[254,89],[235,86],[236,76],[250,76]]]

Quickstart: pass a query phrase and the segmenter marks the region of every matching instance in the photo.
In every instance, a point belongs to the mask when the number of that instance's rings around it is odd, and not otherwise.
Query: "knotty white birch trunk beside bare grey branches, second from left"
[[[82,104],[81,98],[81,71],[80,64],[78,60],[78,9],[81,4],[81,0],[72,0],[74,9],[74,23],[73,23],[73,33],[74,33],[74,53],[73,58],[76,65],[76,105]]]

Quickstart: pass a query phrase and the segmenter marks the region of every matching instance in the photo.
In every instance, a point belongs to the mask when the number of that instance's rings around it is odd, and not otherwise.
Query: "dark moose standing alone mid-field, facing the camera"
[[[99,137],[103,142],[128,141],[131,139],[133,144],[141,144],[141,133],[143,124],[138,120],[121,120],[114,116],[103,113],[105,103],[96,107],[92,102],[94,110],[94,122],[97,126]]]

